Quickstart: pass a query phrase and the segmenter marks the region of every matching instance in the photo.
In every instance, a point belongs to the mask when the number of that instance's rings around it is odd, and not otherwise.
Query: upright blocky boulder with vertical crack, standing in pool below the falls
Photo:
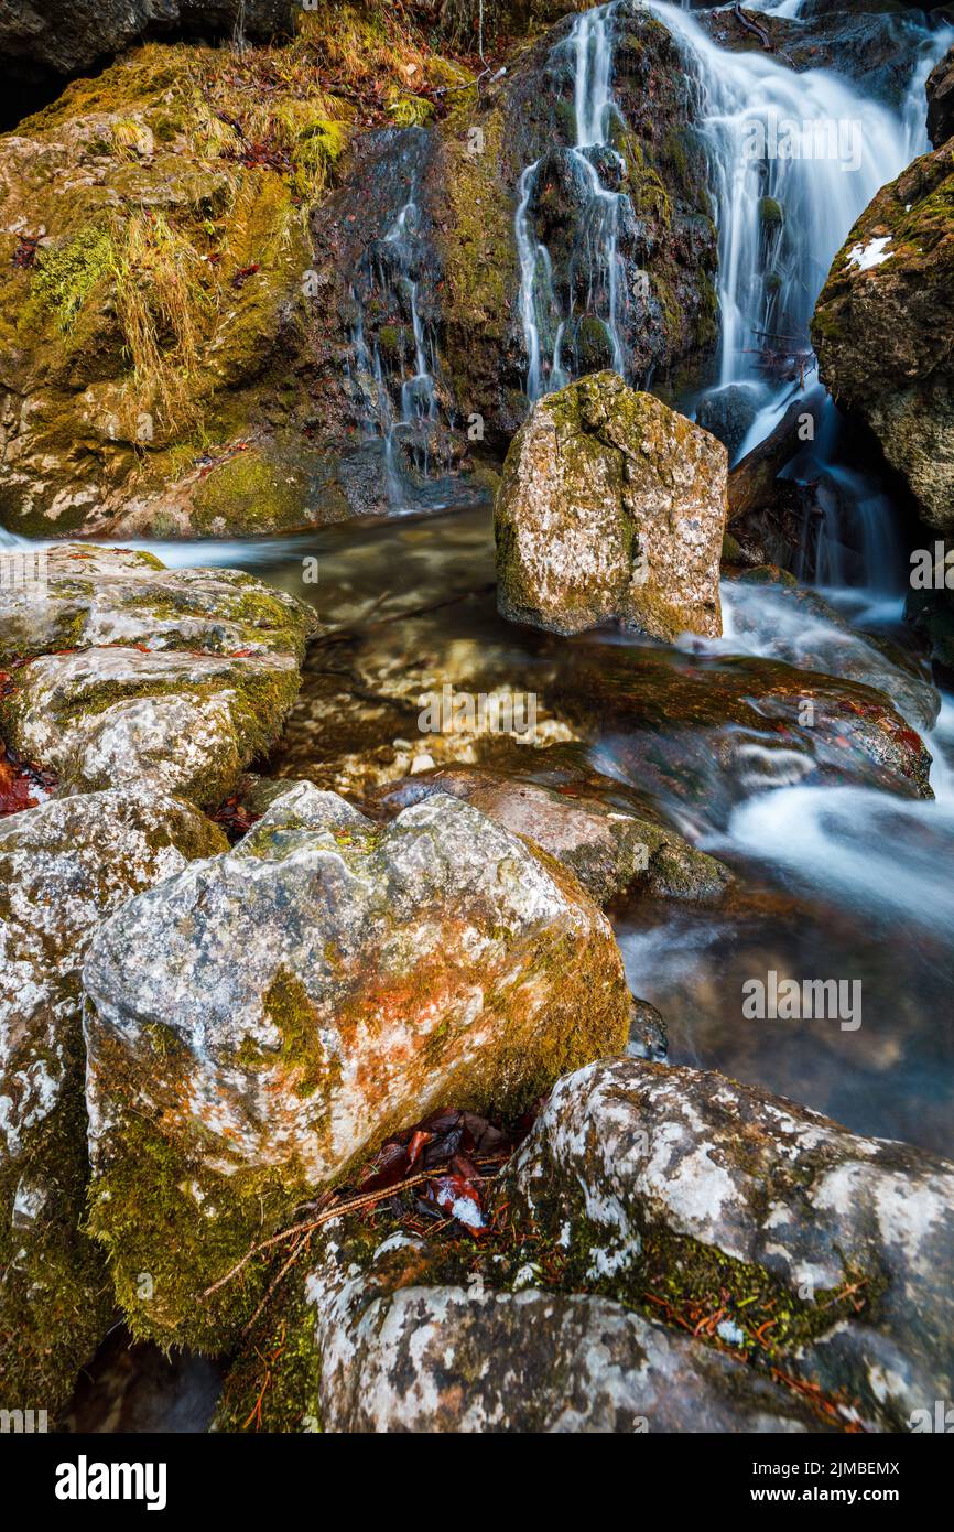
[[[498,605],[554,633],[718,636],[726,449],[599,372],[542,398],[496,499]]]

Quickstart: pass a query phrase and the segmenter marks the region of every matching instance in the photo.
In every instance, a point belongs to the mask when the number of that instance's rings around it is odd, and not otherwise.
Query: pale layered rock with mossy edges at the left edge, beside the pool
[[[0,594],[9,741],[61,792],[144,778],[219,803],[276,738],[314,614],[236,570],[54,550],[44,587]],[[47,651],[47,653],[44,653]]]

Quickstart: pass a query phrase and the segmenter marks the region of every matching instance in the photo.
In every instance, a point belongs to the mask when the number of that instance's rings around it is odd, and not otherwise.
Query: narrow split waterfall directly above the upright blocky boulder
[[[609,142],[620,112],[613,97],[613,17],[620,0],[580,12],[570,35],[557,43],[553,60],[573,60],[574,142],[550,150],[527,165],[518,184],[515,219],[521,270],[519,311],[527,349],[527,398],[564,388],[585,368],[573,365],[580,320],[602,326],[606,362],[626,372],[620,339],[619,224],[623,195],[606,184],[619,181],[622,156]],[[554,290],[553,260],[534,233],[534,199],[560,156],[579,193],[582,211],[574,239],[567,293]],[[582,280],[580,280],[582,276]],[[568,355],[570,354],[570,355]]]

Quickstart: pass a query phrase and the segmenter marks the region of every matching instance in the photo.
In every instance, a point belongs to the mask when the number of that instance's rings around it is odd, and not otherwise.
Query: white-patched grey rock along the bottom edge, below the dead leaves
[[[372,1235],[374,1239],[374,1235]],[[289,1344],[263,1403],[271,1431],[654,1432],[819,1429],[787,1393],[585,1295],[427,1281],[424,1241],[369,1247],[335,1230],[294,1298],[276,1305]],[[273,1348],[262,1336],[262,1350]],[[289,1360],[286,1360],[289,1357]],[[217,1429],[242,1429],[260,1388],[250,1345],[227,1379]],[[259,1382],[256,1382],[259,1379]]]

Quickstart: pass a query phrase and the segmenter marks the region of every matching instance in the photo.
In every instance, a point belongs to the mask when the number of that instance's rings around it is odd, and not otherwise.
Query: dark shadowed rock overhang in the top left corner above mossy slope
[[[0,52],[29,72],[72,75],[138,37],[199,32],[230,37],[242,14],[250,38],[294,26],[291,0],[8,0],[0,6]]]

